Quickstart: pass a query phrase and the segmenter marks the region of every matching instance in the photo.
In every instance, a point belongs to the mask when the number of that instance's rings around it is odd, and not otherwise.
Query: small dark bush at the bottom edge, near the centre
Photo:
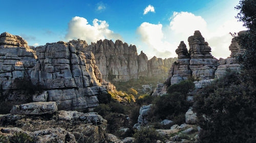
[[[152,143],[157,140],[163,140],[154,128],[144,127],[141,130],[137,130],[134,134],[135,143]]]

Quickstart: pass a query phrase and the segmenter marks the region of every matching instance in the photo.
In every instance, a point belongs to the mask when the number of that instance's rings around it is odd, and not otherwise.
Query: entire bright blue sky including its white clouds
[[[29,45],[83,39],[122,39],[149,58],[176,56],[175,49],[200,30],[217,58],[230,52],[229,32],[245,30],[234,18],[239,0],[204,1],[2,1],[0,32]],[[148,6],[154,11],[144,14]],[[98,19],[98,20],[95,20]],[[93,21],[95,24],[93,24]],[[187,44],[188,47],[188,44]]]

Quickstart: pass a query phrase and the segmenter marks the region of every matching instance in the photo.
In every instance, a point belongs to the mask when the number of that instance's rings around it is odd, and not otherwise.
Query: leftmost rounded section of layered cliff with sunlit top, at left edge
[[[2,33],[0,35],[0,85],[1,90],[17,89],[16,78],[27,78],[36,64],[34,47],[28,46],[22,37]]]

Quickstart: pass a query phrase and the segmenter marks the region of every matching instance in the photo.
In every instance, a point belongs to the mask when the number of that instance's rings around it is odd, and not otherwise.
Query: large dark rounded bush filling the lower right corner
[[[254,73],[255,74],[255,73]],[[195,97],[200,142],[256,142],[256,87],[236,72],[212,82]]]

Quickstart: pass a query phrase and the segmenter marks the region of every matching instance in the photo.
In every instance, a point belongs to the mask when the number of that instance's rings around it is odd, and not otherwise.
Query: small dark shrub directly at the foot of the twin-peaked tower
[[[179,92],[182,94],[187,94],[189,90],[193,90],[195,88],[195,84],[191,80],[183,80],[178,84],[173,84],[168,87],[167,92],[172,94],[173,92]]]

